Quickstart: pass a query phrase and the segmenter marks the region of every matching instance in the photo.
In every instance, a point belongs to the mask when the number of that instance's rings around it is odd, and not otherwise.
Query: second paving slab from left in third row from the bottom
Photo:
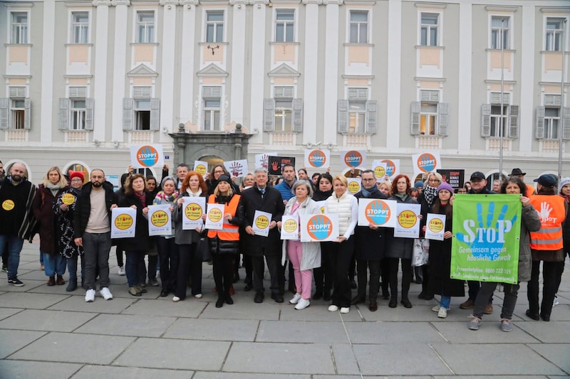
[[[174,317],[100,314],[81,326],[77,332],[109,336],[160,337],[174,321]]]

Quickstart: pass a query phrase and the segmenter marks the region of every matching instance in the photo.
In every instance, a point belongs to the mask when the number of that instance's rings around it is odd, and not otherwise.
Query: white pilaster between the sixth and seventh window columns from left
[[[402,75],[402,0],[388,1],[388,94],[386,98],[386,146],[400,146],[400,97],[394,93],[400,93]]]

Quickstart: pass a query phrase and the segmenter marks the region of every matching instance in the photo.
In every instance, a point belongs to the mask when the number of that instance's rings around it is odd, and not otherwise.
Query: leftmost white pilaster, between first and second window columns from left
[[[40,142],[51,144],[51,134],[57,129],[53,119],[53,52],[56,43],[56,1],[43,1],[43,29],[41,49],[41,103],[32,105],[41,107],[41,116],[32,127],[40,127]],[[31,97],[28,94],[28,97]],[[45,145],[44,145],[45,146]]]

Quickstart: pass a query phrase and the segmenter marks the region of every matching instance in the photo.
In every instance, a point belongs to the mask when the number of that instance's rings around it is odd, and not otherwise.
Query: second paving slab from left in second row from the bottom
[[[52,332],[38,338],[10,358],[108,365],[134,340],[133,337]]]

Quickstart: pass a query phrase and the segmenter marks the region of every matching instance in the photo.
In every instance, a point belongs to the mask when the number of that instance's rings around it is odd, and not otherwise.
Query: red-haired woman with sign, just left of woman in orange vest
[[[202,256],[197,252],[197,244],[200,240],[203,225],[199,228],[186,230],[182,225],[184,216],[184,204],[192,198],[205,198],[208,187],[202,175],[197,171],[186,174],[180,188],[180,196],[177,198],[177,206],[172,210],[172,220],[175,225],[175,243],[178,245],[180,261],[176,275],[176,290],[172,301],[177,302],[186,299],[186,282],[188,276],[192,280],[192,295],[196,299],[202,298]],[[206,203],[204,199],[204,204]],[[206,219],[205,209],[202,209],[202,223]]]

